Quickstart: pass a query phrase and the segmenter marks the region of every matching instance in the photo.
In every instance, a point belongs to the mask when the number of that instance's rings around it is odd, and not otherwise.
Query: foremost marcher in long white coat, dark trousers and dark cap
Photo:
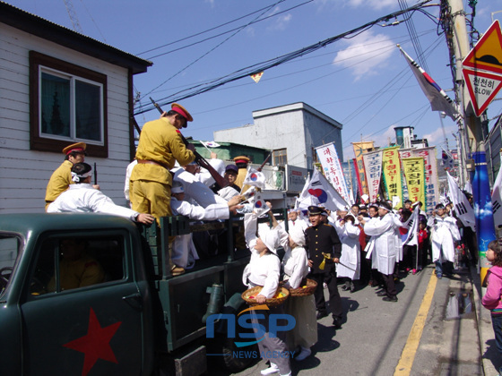
[[[367,245],[368,255],[372,260],[372,268],[377,269],[384,278],[385,290],[378,293],[385,302],[397,302],[397,291],[394,285],[394,264],[396,258],[396,236],[394,218],[389,215],[392,207],[387,202],[378,206],[378,218],[366,220],[361,218],[366,235],[371,235]]]

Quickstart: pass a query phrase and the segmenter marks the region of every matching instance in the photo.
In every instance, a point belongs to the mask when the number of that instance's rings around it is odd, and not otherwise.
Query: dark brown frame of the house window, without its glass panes
[[[101,88],[101,121],[102,141],[77,139],[73,134],[69,138],[50,136],[41,132],[40,93],[41,73],[54,74],[56,76],[70,76],[75,79],[99,85]],[[71,97],[70,107],[74,110],[74,95]],[[74,119],[71,120],[75,133]],[[67,63],[55,57],[30,51],[30,150],[61,152],[66,146],[74,142],[83,141],[87,144],[87,151],[92,157],[108,158],[108,84],[107,75],[91,71],[82,66]]]

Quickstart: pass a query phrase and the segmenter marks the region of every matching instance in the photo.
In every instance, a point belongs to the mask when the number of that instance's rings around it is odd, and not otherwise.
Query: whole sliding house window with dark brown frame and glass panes
[[[108,157],[107,76],[30,51],[30,147],[60,152],[84,141]]]

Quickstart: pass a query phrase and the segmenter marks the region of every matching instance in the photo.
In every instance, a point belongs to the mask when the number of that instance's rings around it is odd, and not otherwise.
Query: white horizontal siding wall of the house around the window
[[[48,179],[64,160],[61,150],[30,150],[30,50],[108,76],[108,158],[88,156],[85,161],[91,166],[97,163],[101,191],[125,205],[125,167],[129,163],[125,68],[0,23],[0,213],[43,211]]]

